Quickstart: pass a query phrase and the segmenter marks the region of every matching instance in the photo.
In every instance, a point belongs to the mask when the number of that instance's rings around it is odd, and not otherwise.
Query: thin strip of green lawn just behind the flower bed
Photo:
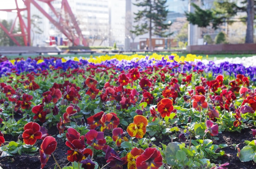
[[[141,54],[141,55],[146,55],[144,52],[141,52],[141,53],[138,53],[138,54]],[[151,55],[152,53],[149,53],[149,55]],[[163,52],[163,53],[159,53],[161,55],[169,55],[170,53],[167,53],[167,52]],[[42,55],[44,57],[49,57],[49,56],[55,56],[55,57],[79,57],[79,56],[82,56],[82,57],[90,57],[90,56],[100,56],[100,55],[105,55],[104,53],[103,54],[77,54],[77,55],[74,55],[74,54],[64,54],[64,55]],[[125,55],[132,55],[132,53],[128,53],[128,54],[125,54]],[[181,53],[181,52],[177,52],[177,55],[179,56],[186,56],[187,53]],[[201,54],[196,54],[197,56],[203,56],[203,59],[206,59],[206,55],[201,55]],[[228,57],[228,58],[235,58],[235,57],[250,57],[250,56],[255,56],[256,54],[214,54],[214,55],[208,55],[208,59],[209,60],[213,60],[214,57],[216,57],[217,59],[224,59],[225,57]],[[31,57],[31,58],[35,58],[39,55],[23,55],[23,56],[14,56],[14,55],[7,55],[7,57],[9,59],[15,59],[15,58],[20,58],[20,57],[23,57],[24,59],[27,59],[28,57]],[[112,56],[112,55],[110,55]]]

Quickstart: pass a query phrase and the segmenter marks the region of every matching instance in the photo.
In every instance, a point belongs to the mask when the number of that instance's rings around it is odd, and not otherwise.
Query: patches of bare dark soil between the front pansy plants
[[[182,129],[181,129],[182,130]],[[53,126],[48,133],[50,135],[57,135],[59,132],[56,129],[55,126]],[[179,136],[179,134],[177,134]],[[254,137],[252,135],[252,132],[250,129],[244,129],[241,131],[241,133],[237,132],[223,132],[221,134],[218,134],[219,140],[213,140],[213,144],[239,144],[239,148],[242,149],[246,144],[244,143],[245,140],[254,140]],[[65,140],[62,138],[56,137],[57,141],[57,148],[54,152],[54,156],[58,163],[60,164],[60,167],[64,166],[70,166],[72,165],[67,160],[67,155],[65,154],[67,150],[69,149],[65,145]],[[6,141],[17,141],[17,138],[12,137],[10,135],[5,135]],[[194,139],[194,138],[193,138]],[[173,141],[179,141],[178,138],[176,138]],[[162,139],[157,139],[154,143],[162,147],[162,145],[159,143],[162,142],[164,144],[168,144],[168,142],[171,142],[171,139],[169,136],[164,135]],[[42,143],[42,140],[39,140],[36,143],[37,147],[40,147]],[[185,142],[188,144],[188,142]],[[253,161],[250,162],[241,162],[239,158],[237,157],[237,150],[235,150],[233,147],[227,147],[223,148],[225,150],[225,156],[219,158],[218,160],[221,161],[221,163],[229,163],[228,168],[236,168],[236,169],[255,169],[256,164]],[[99,164],[100,167],[104,166],[106,164],[106,159],[104,157],[96,156],[94,157],[95,161]],[[13,157],[4,157],[0,159],[0,166],[3,169],[40,169],[41,163],[40,163],[40,156],[39,152],[35,154],[35,156],[30,156],[23,154],[21,156],[16,155]],[[55,167],[55,161],[52,157],[49,158],[47,165],[44,167],[45,169],[54,169]],[[109,168],[109,167],[106,167]],[[124,169],[127,168],[127,165],[123,167]]]

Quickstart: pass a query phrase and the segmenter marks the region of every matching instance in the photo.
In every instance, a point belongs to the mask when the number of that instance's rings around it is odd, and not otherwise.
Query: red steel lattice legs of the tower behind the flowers
[[[57,29],[60,30],[74,45],[83,44],[84,46],[88,46],[84,36],[82,35],[81,29],[76,21],[76,17],[74,16],[69,4],[68,0],[62,0],[61,2],[61,12],[57,12],[56,9],[52,6],[51,2],[55,0],[22,0],[25,8],[19,8],[17,0],[15,1],[16,8],[15,9],[0,9],[0,11],[6,12],[15,12],[17,13],[17,17],[15,18],[10,30],[7,30],[2,23],[0,23],[0,27],[4,30],[4,32],[14,41],[15,44],[21,46],[19,42],[14,38],[15,36],[22,36],[24,40],[24,44],[26,46],[30,46],[31,44],[31,16],[30,16],[30,6],[33,4],[49,21],[52,22],[53,25],[56,26]],[[36,2],[45,2],[50,10],[55,14],[57,19],[51,17],[43,8]],[[21,11],[27,11],[27,18],[24,20]],[[65,16],[62,14],[64,13]],[[15,26],[15,22],[19,18],[19,25],[21,29],[21,33],[13,33],[13,29]],[[67,19],[68,18],[68,19]],[[27,24],[25,23],[27,21]],[[81,42],[81,43],[80,43]]]

